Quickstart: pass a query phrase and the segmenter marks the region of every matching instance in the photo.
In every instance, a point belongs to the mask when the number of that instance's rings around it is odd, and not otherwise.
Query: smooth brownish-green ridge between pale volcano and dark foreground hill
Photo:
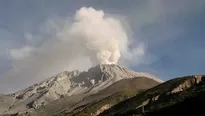
[[[83,101],[80,102],[81,105],[79,106],[81,107],[74,109],[72,112],[63,111],[60,113],[60,115],[61,116],[84,116],[84,115],[92,115],[92,114],[96,115],[96,112],[98,112],[98,110],[101,107],[105,105],[113,106],[122,100],[128,99],[136,95],[136,93],[140,91],[149,89],[158,84],[159,84],[158,82],[146,77],[123,79],[112,84],[106,89],[98,92],[97,94],[86,97]],[[82,103],[91,100],[93,102],[87,102],[88,104],[84,106],[82,105]]]

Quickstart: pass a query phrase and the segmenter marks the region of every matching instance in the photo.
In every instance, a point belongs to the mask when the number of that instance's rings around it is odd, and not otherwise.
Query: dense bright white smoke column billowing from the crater
[[[83,7],[76,12],[70,34],[75,39],[82,39],[95,63],[117,64],[121,51],[127,46],[127,35],[120,21],[93,8]]]

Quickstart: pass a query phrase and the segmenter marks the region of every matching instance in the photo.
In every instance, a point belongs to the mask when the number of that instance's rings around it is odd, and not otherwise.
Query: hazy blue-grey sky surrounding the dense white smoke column
[[[121,22],[136,54],[120,65],[162,80],[205,74],[205,0],[1,0],[0,93],[91,66],[76,41],[56,39],[82,7]]]

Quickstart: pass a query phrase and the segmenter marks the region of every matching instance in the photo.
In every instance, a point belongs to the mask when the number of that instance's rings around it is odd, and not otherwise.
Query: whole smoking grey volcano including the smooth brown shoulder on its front
[[[70,112],[124,89],[144,90],[161,82],[148,73],[114,64],[97,65],[86,72],[64,71],[24,90],[0,95],[0,114]]]

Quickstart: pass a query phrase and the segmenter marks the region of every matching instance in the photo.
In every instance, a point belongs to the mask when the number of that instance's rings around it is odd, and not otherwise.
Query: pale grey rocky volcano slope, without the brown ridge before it
[[[24,90],[1,95],[0,114],[34,111],[53,103],[64,103],[64,100],[67,100],[69,105],[76,104],[86,96],[96,94],[119,80],[134,77],[163,82],[150,74],[134,72],[118,65],[98,65],[87,72],[65,71]],[[63,105],[62,107],[64,108]]]

